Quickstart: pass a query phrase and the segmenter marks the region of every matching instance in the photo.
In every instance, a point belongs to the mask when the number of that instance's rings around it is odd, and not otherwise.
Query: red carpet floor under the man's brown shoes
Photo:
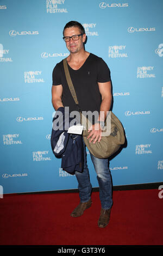
[[[10,194],[0,199],[1,245],[163,245],[159,190],[114,191],[110,222],[97,221],[101,204],[70,217],[78,193]]]

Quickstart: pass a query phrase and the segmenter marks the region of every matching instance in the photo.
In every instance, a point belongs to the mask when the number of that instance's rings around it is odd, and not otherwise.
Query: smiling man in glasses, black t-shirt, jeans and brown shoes
[[[85,51],[86,34],[79,22],[68,22],[64,27],[63,35],[66,47],[70,51],[70,55],[67,57],[68,70],[76,90],[80,109],[82,111],[98,111],[99,113],[98,119],[89,129],[89,136],[87,137],[90,143],[98,143],[102,138],[102,126],[106,112],[110,110],[112,101],[110,70],[102,58]],[[68,106],[70,112],[78,111],[66,82],[62,61],[53,70],[52,103],[55,110],[59,107]],[[100,115],[100,112],[104,114]],[[97,173],[99,198],[102,205],[98,227],[104,228],[109,223],[112,206],[112,184],[108,159],[98,159],[92,154],[90,155]],[[92,204],[92,186],[86,164],[85,144],[83,172],[75,172],[75,175],[79,184],[80,203],[73,210],[71,216],[79,217]]]

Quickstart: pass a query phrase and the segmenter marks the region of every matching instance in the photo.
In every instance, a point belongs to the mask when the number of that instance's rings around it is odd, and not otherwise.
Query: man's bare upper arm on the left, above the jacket
[[[62,100],[62,85],[52,86],[52,104],[54,109],[57,111],[59,107],[64,107]]]

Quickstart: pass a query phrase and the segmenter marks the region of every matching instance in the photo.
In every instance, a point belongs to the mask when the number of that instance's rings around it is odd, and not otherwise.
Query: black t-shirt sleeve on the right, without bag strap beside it
[[[108,65],[104,62],[101,58],[98,61],[98,77],[97,82],[99,83],[106,83],[110,81],[110,69]]]

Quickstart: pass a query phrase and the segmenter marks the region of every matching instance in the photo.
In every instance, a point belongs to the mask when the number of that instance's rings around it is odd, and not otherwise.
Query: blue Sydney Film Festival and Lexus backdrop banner
[[[112,112],[127,145],[110,161],[114,186],[163,180],[162,0],[0,1],[0,185],[4,193],[70,190],[76,177],[60,168],[50,138],[52,71],[68,56],[62,30],[85,27],[86,51],[111,71]],[[96,173],[87,151],[93,187]]]

